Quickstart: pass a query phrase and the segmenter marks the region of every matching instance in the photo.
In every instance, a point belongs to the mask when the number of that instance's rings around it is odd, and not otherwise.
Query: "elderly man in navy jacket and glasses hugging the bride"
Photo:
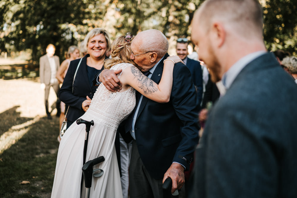
[[[168,41],[158,30],[138,33],[131,43],[131,59],[156,83],[162,77],[163,61],[169,56]],[[115,73],[116,72],[116,73]],[[110,91],[120,90],[115,74],[105,69],[99,81]],[[162,182],[172,179],[171,192],[181,189],[184,171],[189,170],[198,142],[199,104],[189,69],[177,63],[173,69],[170,102],[157,103],[140,96],[135,113],[121,123],[118,131],[124,140],[132,140],[129,170],[130,197],[162,198]]]

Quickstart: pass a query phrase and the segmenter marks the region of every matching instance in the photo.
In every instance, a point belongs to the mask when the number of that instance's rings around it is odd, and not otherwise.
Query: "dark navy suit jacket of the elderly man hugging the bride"
[[[168,56],[166,54],[165,58]],[[162,59],[151,80],[160,82],[163,66]],[[135,137],[140,158],[153,178],[163,178],[173,161],[189,169],[200,128],[199,104],[190,77],[189,69],[184,64],[177,63],[173,69],[170,102],[161,104],[146,97],[141,101],[135,123]],[[129,141],[128,138],[132,138],[129,133],[130,123],[123,125],[119,127],[119,131]]]

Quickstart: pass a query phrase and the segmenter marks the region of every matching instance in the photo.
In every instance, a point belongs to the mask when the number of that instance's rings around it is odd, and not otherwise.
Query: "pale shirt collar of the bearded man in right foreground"
[[[225,86],[226,89],[230,88],[231,84],[241,72],[241,70],[250,62],[252,62],[254,59],[258,58],[259,56],[266,53],[266,51],[257,51],[254,53],[250,53],[247,56],[244,56],[243,58],[239,59],[235,64],[233,64],[230,69],[225,72],[222,76],[222,83]]]

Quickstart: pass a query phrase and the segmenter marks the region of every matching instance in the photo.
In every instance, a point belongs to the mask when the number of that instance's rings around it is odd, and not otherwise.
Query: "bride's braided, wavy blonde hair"
[[[126,39],[126,36],[117,37],[111,44],[111,58],[105,59],[104,67],[105,69],[110,69],[112,66],[119,63],[130,63],[134,66],[136,64],[130,59],[131,56],[131,39]]]

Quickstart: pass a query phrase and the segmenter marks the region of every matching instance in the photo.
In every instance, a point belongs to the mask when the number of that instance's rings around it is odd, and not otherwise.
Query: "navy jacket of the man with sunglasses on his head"
[[[191,72],[191,77],[195,85],[197,96],[198,96],[198,102],[199,104],[201,104],[202,94],[203,94],[203,79],[202,79],[202,69],[201,69],[200,63],[191,58],[188,58],[186,66],[189,68]]]

